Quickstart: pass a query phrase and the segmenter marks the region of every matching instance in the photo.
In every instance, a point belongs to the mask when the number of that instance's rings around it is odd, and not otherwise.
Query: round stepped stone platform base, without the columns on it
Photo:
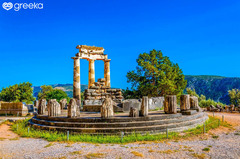
[[[30,124],[39,129],[53,131],[71,131],[84,134],[156,134],[169,131],[179,132],[203,124],[208,119],[204,112],[193,115],[164,114],[163,111],[150,112],[147,117],[128,117],[126,113],[115,114],[108,119],[100,118],[99,113],[81,113],[80,118],[66,116],[48,117],[38,115]]]

